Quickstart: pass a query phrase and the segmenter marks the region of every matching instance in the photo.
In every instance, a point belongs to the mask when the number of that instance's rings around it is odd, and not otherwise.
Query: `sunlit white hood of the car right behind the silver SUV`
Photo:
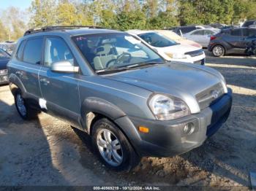
[[[180,53],[184,54],[186,52],[192,52],[195,50],[200,50],[200,47],[193,47],[191,45],[177,44],[170,47],[157,47],[157,50],[161,50],[162,52],[170,52],[172,54]]]

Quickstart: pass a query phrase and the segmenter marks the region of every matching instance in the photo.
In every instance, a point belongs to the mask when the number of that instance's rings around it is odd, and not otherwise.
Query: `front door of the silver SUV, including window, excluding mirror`
[[[45,38],[43,66],[39,71],[39,84],[42,91],[40,106],[47,112],[77,125],[80,116],[80,99],[76,77],[79,74],[51,71],[52,63],[59,61],[75,64],[75,58],[64,39],[55,36]]]

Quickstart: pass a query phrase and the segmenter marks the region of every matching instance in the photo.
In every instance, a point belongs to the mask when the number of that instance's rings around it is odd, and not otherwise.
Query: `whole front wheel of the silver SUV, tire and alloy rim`
[[[102,118],[92,128],[92,147],[105,166],[114,171],[130,171],[138,165],[140,157],[113,122]]]

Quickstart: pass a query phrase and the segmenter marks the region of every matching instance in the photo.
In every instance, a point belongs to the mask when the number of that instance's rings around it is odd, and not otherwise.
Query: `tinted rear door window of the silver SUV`
[[[42,52],[42,38],[29,39],[24,50],[23,61],[27,63],[40,64]]]

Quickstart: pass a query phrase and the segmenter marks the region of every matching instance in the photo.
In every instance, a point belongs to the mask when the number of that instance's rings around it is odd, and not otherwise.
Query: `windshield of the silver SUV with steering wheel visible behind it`
[[[163,62],[156,52],[129,34],[86,34],[72,40],[95,71]]]

